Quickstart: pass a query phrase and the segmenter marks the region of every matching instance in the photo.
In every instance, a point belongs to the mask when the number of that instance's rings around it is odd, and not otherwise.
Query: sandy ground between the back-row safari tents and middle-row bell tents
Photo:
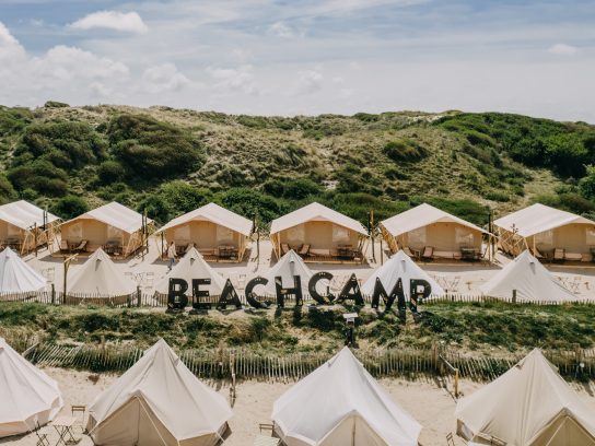
[[[147,292],[152,292],[151,283],[143,279],[147,272],[154,274],[153,283],[158,283],[167,271],[166,263],[160,260],[159,257],[160,239],[150,239],[150,250],[144,258],[131,257],[127,260],[117,261],[118,268],[130,273],[138,280],[138,283]],[[230,278],[236,289],[242,291],[244,284],[252,278],[262,274],[272,265],[275,265],[275,256],[272,255],[271,244],[269,240],[260,242],[260,256],[256,258],[256,246],[253,244],[253,249],[248,250],[248,260],[242,263],[210,263],[224,278]],[[372,249],[366,253],[368,262],[365,265],[325,265],[325,263],[307,263],[313,271],[329,271],[335,277],[335,283],[339,285],[343,283],[352,272],[354,272],[362,282],[365,281],[372,271],[380,267],[381,250],[380,244],[375,244],[375,259],[372,257]],[[382,255],[382,259],[386,260],[386,254]],[[25,260],[37,271],[40,271],[48,277],[49,282],[54,282],[56,290],[61,291],[63,286],[63,266],[61,258],[54,258],[47,250],[40,251],[38,257],[33,254],[28,255]],[[69,277],[81,268],[84,258],[78,259],[71,263]],[[442,265],[438,262],[421,263],[430,275],[432,275],[445,290],[448,292],[460,294],[479,294],[479,286],[495,274],[504,265],[510,261],[505,256],[498,254],[494,262],[491,265]],[[562,279],[563,283],[579,297],[595,298],[595,268],[593,267],[560,267],[547,266],[552,273]]]

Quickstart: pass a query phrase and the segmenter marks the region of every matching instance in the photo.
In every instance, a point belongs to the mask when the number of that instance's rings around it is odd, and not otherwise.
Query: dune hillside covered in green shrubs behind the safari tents
[[[254,117],[0,107],[0,202],[117,200],[163,223],[217,201],[265,224],[317,200],[363,223],[429,201],[483,224],[534,201],[595,215],[595,126],[505,114]]]

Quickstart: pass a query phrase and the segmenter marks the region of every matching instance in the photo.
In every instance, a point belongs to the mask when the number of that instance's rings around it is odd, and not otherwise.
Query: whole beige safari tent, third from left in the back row
[[[194,246],[207,261],[242,261],[252,230],[248,219],[209,203],[172,220],[155,234],[163,235],[162,253],[173,240],[180,255]]]

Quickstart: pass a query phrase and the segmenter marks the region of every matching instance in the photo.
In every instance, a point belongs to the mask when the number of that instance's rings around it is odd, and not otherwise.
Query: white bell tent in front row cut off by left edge
[[[0,437],[47,424],[62,404],[58,384],[0,338]]]

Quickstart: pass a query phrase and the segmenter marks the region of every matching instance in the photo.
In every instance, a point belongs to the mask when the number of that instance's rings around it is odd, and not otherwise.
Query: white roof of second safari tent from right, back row
[[[428,203],[417,206],[381,222],[394,237],[433,223],[457,223],[488,234],[486,230]]]

